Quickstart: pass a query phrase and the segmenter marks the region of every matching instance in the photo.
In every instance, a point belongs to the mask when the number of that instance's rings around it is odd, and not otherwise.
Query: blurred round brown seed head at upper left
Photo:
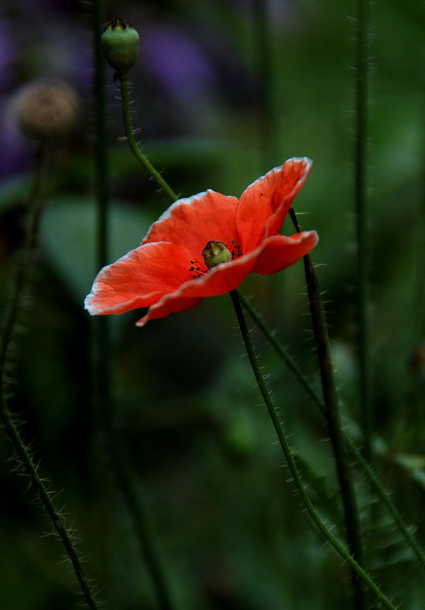
[[[27,137],[57,140],[75,127],[81,100],[64,81],[40,79],[23,88],[17,98],[18,123]]]

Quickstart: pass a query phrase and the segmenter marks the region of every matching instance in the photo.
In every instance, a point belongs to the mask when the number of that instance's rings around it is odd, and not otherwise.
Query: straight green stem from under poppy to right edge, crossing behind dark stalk
[[[271,344],[271,346],[273,346],[273,348],[276,350],[278,355],[281,358],[283,358],[285,363],[290,368],[290,371],[292,371],[294,373],[295,377],[300,381],[300,383],[303,386],[303,388],[305,389],[305,391],[310,395],[312,400],[316,403],[316,405],[319,407],[319,409],[324,414],[324,409],[325,409],[324,401],[323,401],[322,397],[319,396],[319,393],[316,390],[314,390],[312,384],[307,379],[307,375],[305,375],[305,373],[303,373],[303,371],[297,365],[297,363],[295,362],[293,357],[290,356],[290,354],[288,354],[288,351],[283,347],[283,345],[277,339],[276,335],[273,334],[273,332],[271,332],[271,329],[268,328],[267,324],[263,321],[263,319],[261,318],[259,313],[256,312],[254,307],[252,307],[251,303],[249,303],[249,300],[247,300],[246,297],[241,295],[241,293],[239,293],[239,300],[241,301],[244,309],[251,316],[252,320],[254,320],[256,326],[259,327],[259,329],[263,333],[264,337],[266,337],[266,339],[268,339],[269,343]],[[407,544],[409,544],[409,546],[412,548],[412,550],[414,550],[414,553],[416,554],[416,557],[421,562],[422,567],[425,567],[424,550],[421,549],[419,544],[414,539],[414,536],[409,531],[409,528],[407,527],[407,525],[404,523],[402,516],[399,514],[397,508],[395,507],[395,504],[392,502],[392,499],[385,492],[384,488],[381,485],[380,480],[375,475],[375,473],[373,472],[373,469],[370,467],[370,465],[365,461],[365,458],[363,458],[361,451],[359,451],[358,448],[356,447],[356,444],[351,439],[351,436],[348,434],[348,431],[343,430],[343,433],[344,433],[344,439],[346,441],[348,449],[351,451],[354,458],[356,458],[358,465],[363,470],[363,473],[368,478],[368,480],[371,483],[371,485],[373,486],[373,489],[375,490],[375,492],[378,494],[380,499],[382,499],[382,502],[385,503],[385,506],[387,507],[388,512],[390,512],[390,514],[392,515],[392,518],[394,519],[395,524],[397,525],[399,530],[402,532],[405,540],[407,541]]]

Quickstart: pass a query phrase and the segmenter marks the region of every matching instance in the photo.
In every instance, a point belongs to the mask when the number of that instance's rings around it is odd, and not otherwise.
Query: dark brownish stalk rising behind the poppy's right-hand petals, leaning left
[[[290,208],[290,217],[293,220],[297,232],[300,227],[293,208]],[[363,549],[361,543],[361,529],[358,518],[356,494],[354,492],[353,478],[346,456],[346,445],[341,426],[341,416],[339,414],[339,402],[336,395],[336,385],[334,378],[334,365],[332,363],[331,349],[327,332],[327,323],[324,315],[322,297],[317,284],[316,273],[312,261],[308,254],[303,257],[305,267],[305,279],[307,282],[307,293],[310,302],[310,313],[314,339],[316,341],[317,358],[319,361],[320,376],[322,378],[322,388],[324,396],[325,416],[331,437],[331,444],[334,450],[336,461],[336,471],[341,488],[341,497],[344,504],[346,516],[346,529],[348,546],[351,554],[358,563],[363,561]],[[365,608],[365,596],[355,572],[351,572],[351,580],[354,588],[354,602],[356,609]]]

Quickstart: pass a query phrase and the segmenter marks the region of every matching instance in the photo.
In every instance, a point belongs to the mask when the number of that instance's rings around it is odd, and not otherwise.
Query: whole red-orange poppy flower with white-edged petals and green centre
[[[310,252],[315,231],[278,234],[312,162],[289,159],[241,198],[205,191],[179,199],[150,227],[142,245],[104,267],[85,307],[91,315],[149,307],[137,322],[199,305],[239,286],[248,273],[276,273]]]

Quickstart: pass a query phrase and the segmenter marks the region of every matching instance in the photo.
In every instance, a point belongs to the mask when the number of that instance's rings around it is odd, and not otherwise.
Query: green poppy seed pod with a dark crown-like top
[[[139,34],[128,21],[115,18],[103,30],[102,47],[108,64],[125,74],[137,60]]]

